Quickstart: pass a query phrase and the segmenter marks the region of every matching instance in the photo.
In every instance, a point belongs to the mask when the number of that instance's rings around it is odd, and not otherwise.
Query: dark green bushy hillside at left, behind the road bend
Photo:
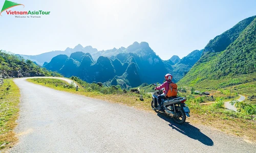
[[[30,60],[25,61],[23,58],[0,50],[0,78],[21,78],[51,75],[59,76],[60,74],[48,71],[45,68],[41,68]]]

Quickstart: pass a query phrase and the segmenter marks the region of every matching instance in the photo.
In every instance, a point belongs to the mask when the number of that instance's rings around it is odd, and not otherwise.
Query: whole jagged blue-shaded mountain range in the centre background
[[[82,47],[78,46],[76,49]],[[122,53],[112,55],[111,58],[100,56],[96,62],[89,53],[75,52],[70,57],[58,55],[44,67],[60,72],[65,77],[74,75],[89,83],[107,82],[109,85],[119,84],[122,87],[136,87],[143,82],[163,82],[163,76],[172,69],[169,67],[167,70],[164,62],[146,42],[134,42],[127,48],[112,50],[115,53],[121,50]],[[116,52],[117,50],[119,51]],[[110,51],[103,53],[108,54]]]

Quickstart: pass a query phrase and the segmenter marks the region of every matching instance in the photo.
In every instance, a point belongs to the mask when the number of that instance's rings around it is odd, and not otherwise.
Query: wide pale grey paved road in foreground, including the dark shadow
[[[209,127],[15,79],[17,143],[9,152],[255,152]],[[192,116],[193,117],[193,116]]]

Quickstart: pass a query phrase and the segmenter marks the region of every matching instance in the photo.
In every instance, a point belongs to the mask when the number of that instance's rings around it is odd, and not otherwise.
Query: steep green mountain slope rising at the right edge
[[[180,85],[222,88],[255,80],[256,16],[210,40]]]

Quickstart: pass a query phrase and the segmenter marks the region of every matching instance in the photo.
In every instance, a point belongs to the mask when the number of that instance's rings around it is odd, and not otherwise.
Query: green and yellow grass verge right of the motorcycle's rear
[[[216,129],[256,142],[255,115],[245,111],[234,112],[224,108],[223,100],[217,99],[217,103],[211,105],[199,105],[203,101],[201,97],[188,96],[185,102],[189,109],[191,122],[215,127]]]

